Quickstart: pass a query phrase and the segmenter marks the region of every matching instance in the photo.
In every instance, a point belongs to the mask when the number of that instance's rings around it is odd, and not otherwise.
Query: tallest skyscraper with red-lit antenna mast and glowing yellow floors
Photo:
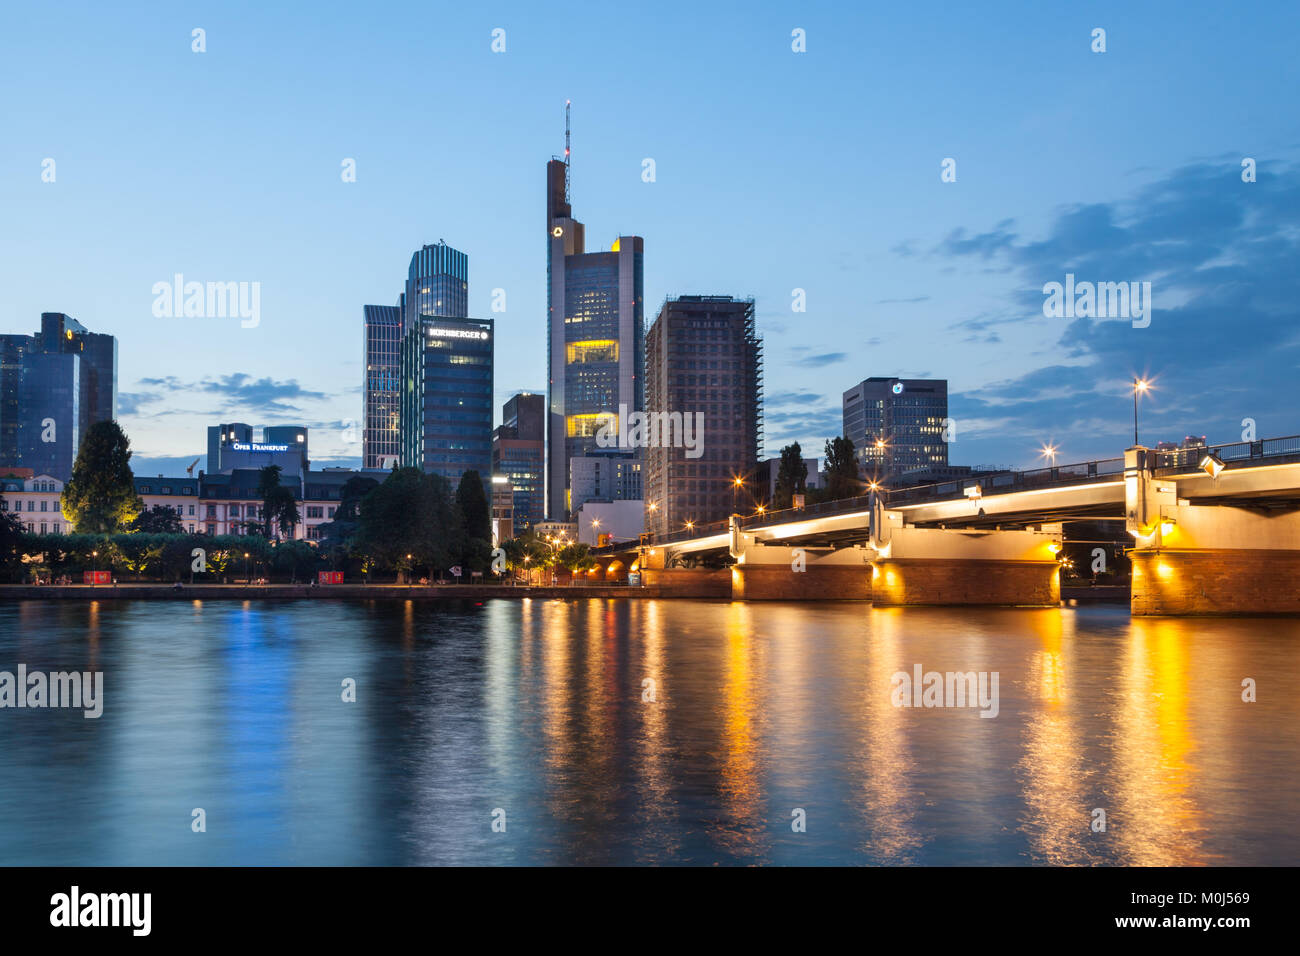
[[[569,459],[595,447],[619,408],[644,407],[644,242],[620,235],[608,252],[588,252],[568,190],[569,148],[546,164],[546,515],[564,520]]]

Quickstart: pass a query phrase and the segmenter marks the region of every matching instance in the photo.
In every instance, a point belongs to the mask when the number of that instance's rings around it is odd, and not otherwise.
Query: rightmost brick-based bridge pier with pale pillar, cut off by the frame
[[[1124,453],[1134,617],[1300,614],[1300,512],[1179,498],[1173,479],[1150,472],[1148,454]]]

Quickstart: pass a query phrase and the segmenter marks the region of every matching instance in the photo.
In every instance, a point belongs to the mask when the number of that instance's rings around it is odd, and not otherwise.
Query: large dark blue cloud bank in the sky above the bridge
[[[1011,321],[1056,323],[1066,362],[954,395],[954,416],[996,419],[1009,432],[1052,429],[1118,454],[1131,441],[1128,382],[1150,375],[1144,441],[1235,441],[1243,418],[1256,419],[1261,436],[1300,432],[1300,165],[1261,163],[1258,181],[1243,183],[1238,163],[1199,163],[1131,198],[1063,208],[1039,238],[1022,241],[1010,224],[970,238],[954,230],[941,250],[1005,260],[1024,311],[952,328],[976,337]],[[1043,317],[1043,285],[1067,272],[1152,282],[1150,325]]]

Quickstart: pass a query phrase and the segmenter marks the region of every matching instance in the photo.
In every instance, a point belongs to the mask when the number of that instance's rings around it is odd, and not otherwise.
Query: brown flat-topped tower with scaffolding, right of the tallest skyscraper
[[[662,535],[753,511],[763,445],[763,343],[753,299],[681,295],[663,303],[646,333],[646,414],[656,412],[667,419],[645,451],[646,529]],[[679,415],[680,440],[666,442],[664,421],[676,427]]]

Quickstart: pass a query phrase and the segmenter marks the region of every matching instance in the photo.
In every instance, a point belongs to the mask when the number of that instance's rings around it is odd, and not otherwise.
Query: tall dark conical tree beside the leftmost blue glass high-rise
[[[60,502],[78,532],[120,531],[144,509],[130,462],[131,442],[116,421],[96,421],[86,431]]]

